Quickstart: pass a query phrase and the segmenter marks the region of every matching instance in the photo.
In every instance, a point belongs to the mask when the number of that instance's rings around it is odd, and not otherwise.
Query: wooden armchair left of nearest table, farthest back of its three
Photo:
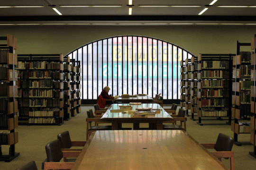
[[[62,132],[57,135],[58,140],[60,141],[62,151],[81,151],[82,149],[70,149],[73,146],[84,146],[86,141],[71,141],[68,131]],[[66,161],[66,157],[63,157],[63,160]]]

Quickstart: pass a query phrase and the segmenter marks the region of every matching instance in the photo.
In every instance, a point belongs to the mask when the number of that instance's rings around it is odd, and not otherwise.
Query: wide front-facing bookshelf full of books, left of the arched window
[[[18,55],[19,125],[62,125],[63,55]]]

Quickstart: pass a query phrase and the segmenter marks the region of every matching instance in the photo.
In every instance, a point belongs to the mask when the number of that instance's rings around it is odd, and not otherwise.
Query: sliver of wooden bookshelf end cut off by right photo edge
[[[249,152],[254,158],[256,158],[256,34],[251,39],[251,50],[254,50],[254,54],[251,54],[251,64],[253,65],[253,70],[251,72],[251,81],[253,86],[251,87],[251,126],[250,126],[250,134],[251,134],[251,143],[253,144],[253,151]]]

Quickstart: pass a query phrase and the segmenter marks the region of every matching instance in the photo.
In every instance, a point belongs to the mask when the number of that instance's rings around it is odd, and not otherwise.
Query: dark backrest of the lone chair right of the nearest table
[[[234,139],[226,134],[219,133],[214,149],[216,151],[231,151]]]

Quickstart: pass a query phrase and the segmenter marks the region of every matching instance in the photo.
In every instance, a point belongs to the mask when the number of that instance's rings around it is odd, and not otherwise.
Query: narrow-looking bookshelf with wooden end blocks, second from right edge
[[[250,43],[240,43],[237,41],[237,54],[233,58],[233,78],[232,84],[232,117],[231,131],[234,132],[234,143],[241,146],[238,142],[238,134],[250,134],[250,127],[243,121],[249,121],[251,112],[251,52],[243,52],[240,48],[251,46]],[[240,124],[240,125],[239,125]]]

